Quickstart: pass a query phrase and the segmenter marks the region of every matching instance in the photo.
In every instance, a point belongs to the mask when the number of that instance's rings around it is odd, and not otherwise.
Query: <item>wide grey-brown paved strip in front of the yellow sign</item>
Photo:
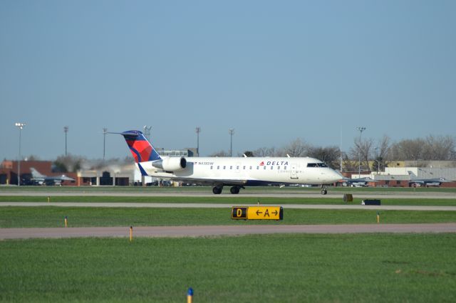
[[[134,227],[133,238],[209,237],[273,233],[456,233],[456,223],[341,225],[207,225]],[[130,227],[0,228],[0,240],[26,238],[128,237]]]

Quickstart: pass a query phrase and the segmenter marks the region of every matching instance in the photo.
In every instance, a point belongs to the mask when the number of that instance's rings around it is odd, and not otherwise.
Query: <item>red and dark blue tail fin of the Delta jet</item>
[[[121,134],[125,138],[128,147],[130,147],[131,154],[133,154],[136,163],[162,159],[154,147],[152,147],[152,144],[145,139],[144,134],[139,130],[128,130]]]

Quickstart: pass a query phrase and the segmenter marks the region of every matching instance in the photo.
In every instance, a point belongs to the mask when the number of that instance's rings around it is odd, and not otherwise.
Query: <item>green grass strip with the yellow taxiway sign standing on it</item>
[[[284,209],[284,220],[232,220],[231,208],[2,207],[0,228],[376,223],[375,210]],[[380,211],[381,223],[456,222],[456,211]]]

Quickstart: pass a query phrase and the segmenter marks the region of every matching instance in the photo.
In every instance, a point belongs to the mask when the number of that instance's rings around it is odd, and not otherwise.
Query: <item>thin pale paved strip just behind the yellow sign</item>
[[[241,204],[241,205],[239,205]],[[272,206],[273,204],[260,204]],[[258,206],[246,203],[129,203],[129,202],[0,202],[0,207],[106,207],[106,208],[232,208],[233,206]],[[381,210],[381,211],[456,211],[456,206],[363,206],[338,204],[282,204],[284,209],[333,209],[333,210]]]

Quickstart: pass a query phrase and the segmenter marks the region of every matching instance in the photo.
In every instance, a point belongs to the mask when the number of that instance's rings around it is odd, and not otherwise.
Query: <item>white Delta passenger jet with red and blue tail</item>
[[[326,185],[343,178],[309,157],[165,157],[139,130],[116,134],[125,138],[142,176],[210,185],[214,194],[222,193],[224,186],[231,186],[230,193],[237,194],[244,186],[316,184],[324,195]]]

